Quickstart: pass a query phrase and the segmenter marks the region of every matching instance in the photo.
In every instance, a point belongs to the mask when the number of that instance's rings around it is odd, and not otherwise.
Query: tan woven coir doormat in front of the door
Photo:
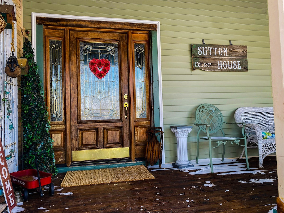
[[[68,171],[61,183],[61,187],[85,186],[145,179],[154,179],[154,176],[143,165]]]

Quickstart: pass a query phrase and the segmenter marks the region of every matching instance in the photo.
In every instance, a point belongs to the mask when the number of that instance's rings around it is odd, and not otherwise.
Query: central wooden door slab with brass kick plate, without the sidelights
[[[130,158],[128,76],[127,33],[70,30],[72,162]]]

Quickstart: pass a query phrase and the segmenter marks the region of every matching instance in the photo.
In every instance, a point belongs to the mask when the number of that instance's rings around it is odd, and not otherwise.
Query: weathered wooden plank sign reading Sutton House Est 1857
[[[247,46],[191,44],[192,69],[205,71],[249,71]]]

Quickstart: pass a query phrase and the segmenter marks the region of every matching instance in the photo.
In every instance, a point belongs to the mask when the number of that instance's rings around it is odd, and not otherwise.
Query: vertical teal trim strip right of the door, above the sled
[[[160,127],[160,101],[159,101],[159,70],[157,31],[151,31],[152,42],[152,69],[153,69],[153,100],[154,100],[154,126]]]

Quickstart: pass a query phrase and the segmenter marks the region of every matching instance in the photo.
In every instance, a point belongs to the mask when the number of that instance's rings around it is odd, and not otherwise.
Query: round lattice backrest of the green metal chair
[[[215,133],[222,128],[223,115],[220,110],[211,104],[201,104],[197,107],[195,112],[196,124],[210,124],[209,134]],[[206,126],[199,126],[199,128],[206,132]]]

